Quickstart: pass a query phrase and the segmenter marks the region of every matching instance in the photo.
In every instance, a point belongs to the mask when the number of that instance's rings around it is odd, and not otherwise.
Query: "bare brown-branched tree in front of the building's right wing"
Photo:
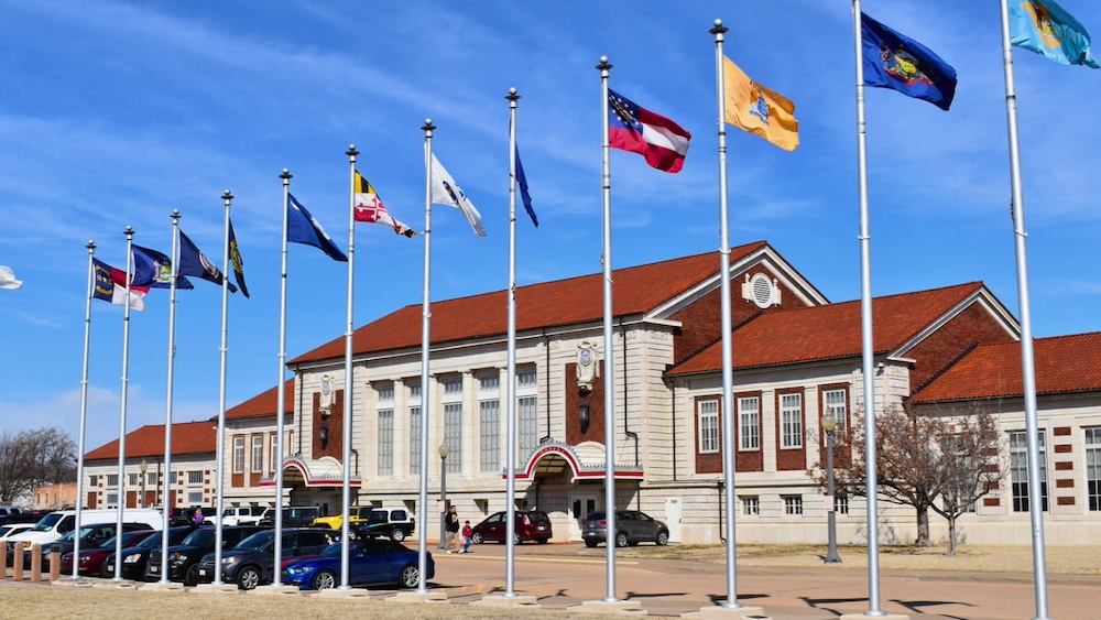
[[[837,486],[850,496],[866,496],[864,420],[854,414],[852,428],[841,435]],[[930,546],[929,511],[949,519],[949,555],[955,554],[956,518],[996,488],[1001,469],[991,459],[1000,450],[993,416],[978,410],[969,415],[926,414],[909,407],[887,407],[875,417],[876,482],[891,503],[912,505],[917,516],[917,546]],[[808,472],[825,480],[819,464]],[[951,499],[945,498],[951,496]],[[938,498],[941,500],[937,505]],[[946,503],[947,501],[947,503]],[[949,515],[952,515],[949,518]]]

